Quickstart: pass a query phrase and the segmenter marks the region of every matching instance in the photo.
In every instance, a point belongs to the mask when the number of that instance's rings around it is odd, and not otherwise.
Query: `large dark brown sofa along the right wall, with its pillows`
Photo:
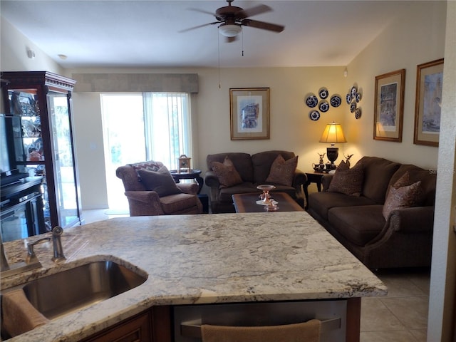
[[[380,157],[339,168],[309,195],[309,214],[370,269],[430,266],[436,175]]]

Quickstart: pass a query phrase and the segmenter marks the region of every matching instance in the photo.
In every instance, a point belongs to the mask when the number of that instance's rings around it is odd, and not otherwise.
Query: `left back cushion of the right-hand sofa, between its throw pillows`
[[[379,157],[362,157],[358,163],[363,164],[364,170],[363,196],[377,204],[383,204],[389,188],[388,183],[400,164]]]

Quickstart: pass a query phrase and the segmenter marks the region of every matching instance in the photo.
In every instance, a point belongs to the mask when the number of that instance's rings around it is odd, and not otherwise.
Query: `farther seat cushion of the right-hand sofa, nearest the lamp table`
[[[313,192],[309,194],[309,212],[315,213],[322,219],[328,219],[328,210],[333,207],[356,207],[373,205],[372,199],[364,196],[347,196],[340,192]]]

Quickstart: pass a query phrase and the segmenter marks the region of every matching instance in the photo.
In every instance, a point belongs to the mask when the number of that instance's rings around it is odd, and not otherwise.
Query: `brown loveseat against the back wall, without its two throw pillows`
[[[243,152],[227,152],[207,155],[207,172],[204,174],[204,183],[210,188],[210,201],[212,212],[234,212],[232,195],[244,194],[249,192],[261,191],[257,189],[257,185],[265,184],[266,178],[269,175],[271,165],[276,160],[276,157],[281,155],[284,160],[289,160],[295,157],[294,152],[271,150],[259,152],[254,155],[249,155]],[[219,180],[215,172],[212,170],[212,162],[223,162],[224,158],[228,157],[232,160],[234,167],[242,178],[242,184],[232,187],[220,187]],[[296,202],[304,207],[304,192],[302,185],[306,184],[306,174],[296,169],[294,172],[293,184],[289,186],[276,185],[276,192],[286,192]]]

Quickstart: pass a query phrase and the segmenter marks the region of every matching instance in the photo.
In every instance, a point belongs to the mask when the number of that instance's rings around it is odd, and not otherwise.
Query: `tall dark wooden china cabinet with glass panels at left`
[[[71,118],[75,83],[46,71],[1,73],[6,115],[19,118],[11,120],[10,165],[31,176],[43,176],[45,227],[41,233],[81,224]]]

